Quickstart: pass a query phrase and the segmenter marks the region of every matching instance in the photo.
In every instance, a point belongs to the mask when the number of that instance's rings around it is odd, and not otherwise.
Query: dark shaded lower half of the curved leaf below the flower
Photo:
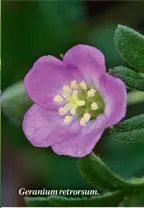
[[[89,161],[89,156],[79,159],[77,161],[77,166],[80,171],[81,176],[90,183],[93,187],[100,190],[113,190],[116,189],[112,184],[103,180],[94,169],[91,161]]]

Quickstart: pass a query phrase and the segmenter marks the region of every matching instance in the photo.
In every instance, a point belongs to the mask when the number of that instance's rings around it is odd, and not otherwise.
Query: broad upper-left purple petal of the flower
[[[24,79],[25,89],[30,98],[42,107],[59,108],[53,97],[60,93],[63,85],[75,79],[82,79],[79,70],[53,56],[39,58]]]

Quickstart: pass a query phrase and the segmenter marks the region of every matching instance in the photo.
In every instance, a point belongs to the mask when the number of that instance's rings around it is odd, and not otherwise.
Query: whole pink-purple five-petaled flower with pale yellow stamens
[[[39,58],[24,86],[35,102],[23,121],[25,136],[58,155],[88,155],[104,129],[126,113],[124,83],[106,73],[103,54],[91,46],[74,46],[63,61]]]

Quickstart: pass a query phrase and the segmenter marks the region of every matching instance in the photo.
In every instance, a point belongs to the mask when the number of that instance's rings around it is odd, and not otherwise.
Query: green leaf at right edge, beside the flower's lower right
[[[106,137],[129,143],[144,142],[144,114],[132,117],[115,125],[106,134]]]

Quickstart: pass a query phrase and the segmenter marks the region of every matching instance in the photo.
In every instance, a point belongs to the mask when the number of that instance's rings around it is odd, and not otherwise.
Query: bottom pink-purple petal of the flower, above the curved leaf
[[[53,151],[58,155],[84,157],[90,154],[99,141],[106,124],[106,119],[100,115],[95,122],[89,122],[76,136],[69,136],[57,144],[52,145]]]

